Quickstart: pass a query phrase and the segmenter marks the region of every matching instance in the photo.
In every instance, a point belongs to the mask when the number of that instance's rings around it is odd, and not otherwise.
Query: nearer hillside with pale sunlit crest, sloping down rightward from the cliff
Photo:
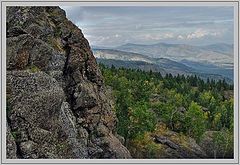
[[[166,58],[151,58],[145,55],[118,51],[113,49],[94,49],[94,56],[98,59],[99,62],[102,62],[106,65],[113,64],[114,66],[129,67],[129,62],[131,62],[132,68],[138,68],[142,70],[152,70],[156,72],[172,73],[173,75],[177,74],[189,74],[194,70],[190,67],[185,66],[184,64],[166,59]],[[114,63],[118,61],[118,63]],[[125,63],[126,66],[123,65]],[[138,67],[137,67],[137,66]]]

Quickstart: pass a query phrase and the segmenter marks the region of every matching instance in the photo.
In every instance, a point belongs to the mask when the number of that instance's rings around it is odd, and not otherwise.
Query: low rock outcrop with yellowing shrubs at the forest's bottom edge
[[[160,124],[142,139],[131,141],[129,150],[134,158],[199,159],[207,158],[205,151],[190,137],[169,130]]]

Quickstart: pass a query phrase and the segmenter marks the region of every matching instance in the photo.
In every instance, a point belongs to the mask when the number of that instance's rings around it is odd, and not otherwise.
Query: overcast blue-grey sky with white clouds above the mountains
[[[233,7],[61,6],[91,45],[233,43]]]

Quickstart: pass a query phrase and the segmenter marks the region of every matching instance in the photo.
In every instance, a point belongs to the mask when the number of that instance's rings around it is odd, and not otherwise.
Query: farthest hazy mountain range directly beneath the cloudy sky
[[[166,43],[141,45],[128,43],[113,49],[139,53],[151,58],[168,58],[177,62],[185,59],[193,62],[214,64],[226,69],[233,68],[233,45],[224,43],[206,46]]]

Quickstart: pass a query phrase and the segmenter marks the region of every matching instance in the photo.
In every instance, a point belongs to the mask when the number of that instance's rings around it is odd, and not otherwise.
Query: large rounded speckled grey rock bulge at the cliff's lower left
[[[20,158],[57,158],[64,92],[44,72],[7,71],[9,125]]]

